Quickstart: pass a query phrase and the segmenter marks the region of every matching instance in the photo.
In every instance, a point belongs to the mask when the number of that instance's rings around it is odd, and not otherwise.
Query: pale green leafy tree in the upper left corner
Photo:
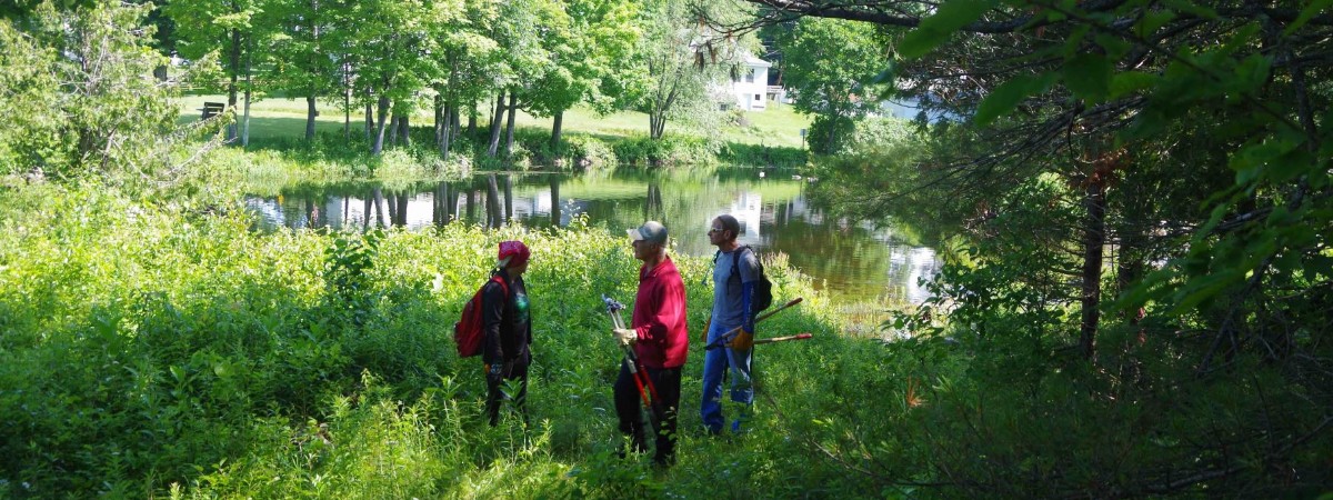
[[[37,8],[0,20],[0,175],[100,175],[117,184],[172,181],[189,137],[168,101],[173,85],[155,71],[167,57],[147,48],[149,5]]]

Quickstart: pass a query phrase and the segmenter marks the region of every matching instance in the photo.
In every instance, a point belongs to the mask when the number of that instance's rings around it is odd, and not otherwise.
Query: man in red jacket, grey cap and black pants
[[[652,417],[657,421],[657,440],[653,461],[670,465],[676,461],[676,413],[680,408],[680,371],[689,349],[685,327],[685,283],[680,271],[666,256],[666,228],[657,221],[647,221],[629,229],[635,259],[644,261],[639,268],[639,293],[629,328],[616,329],[621,344],[633,345],[640,368],[657,388],[652,404]],[[620,431],[629,435],[635,452],[647,452],[644,419],[639,411],[640,395],[629,369],[621,363],[615,385],[616,416]]]

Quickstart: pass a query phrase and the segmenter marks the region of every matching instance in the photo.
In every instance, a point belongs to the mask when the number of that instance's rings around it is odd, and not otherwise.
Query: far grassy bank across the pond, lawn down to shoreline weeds
[[[199,120],[205,101],[221,103],[224,96],[185,96],[179,99],[181,123]],[[412,116],[415,147],[388,145],[387,149],[412,151],[419,163],[444,168],[573,168],[579,160],[595,168],[616,164],[680,165],[726,163],[756,167],[800,167],[805,152],[800,131],[809,127],[809,119],[790,107],[772,104],[764,112],[737,111],[728,115],[717,133],[694,136],[685,125],[668,127],[661,141],[648,139],[648,116],[639,112],[616,112],[597,116],[589,109],[571,109],[564,116],[561,145],[552,148],[549,117],[533,117],[519,112],[516,116],[516,148],[499,159],[485,155],[489,140],[485,127],[473,136],[464,136],[452,148],[452,163],[439,160],[431,147],[433,132],[429,111]],[[345,116],[328,104],[321,104],[316,119],[316,133],[323,139],[311,148],[304,141],[305,101],[292,99],[265,99],[251,105],[249,144],[252,149],[319,149],[324,152],[345,149],[349,159],[373,163],[364,133],[364,115],[352,113],[351,127],[344,129]],[[485,123],[485,117],[480,117]],[[467,117],[464,117],[467,121]],[[460,161],[465,163],[460,165]],[[452,165],[452,167],[451,167]]]

